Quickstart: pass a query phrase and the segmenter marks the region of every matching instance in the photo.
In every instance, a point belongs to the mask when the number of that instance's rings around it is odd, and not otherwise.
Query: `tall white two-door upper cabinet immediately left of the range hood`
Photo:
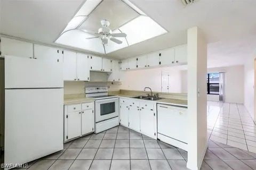
[[[63,78],[66,81],[89,81],[89,56],[82,53],[64,50]]]

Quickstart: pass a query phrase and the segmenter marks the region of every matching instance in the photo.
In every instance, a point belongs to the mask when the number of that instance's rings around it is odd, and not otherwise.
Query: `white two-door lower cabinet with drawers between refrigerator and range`
[[[64,106],[64,142],[94,132],[94,102]]]

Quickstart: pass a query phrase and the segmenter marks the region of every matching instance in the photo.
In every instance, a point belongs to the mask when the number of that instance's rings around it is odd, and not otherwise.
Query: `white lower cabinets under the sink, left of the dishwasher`
[[[120,98],[119,122],[132,130],[156,139],[156,103],[140,99]]]

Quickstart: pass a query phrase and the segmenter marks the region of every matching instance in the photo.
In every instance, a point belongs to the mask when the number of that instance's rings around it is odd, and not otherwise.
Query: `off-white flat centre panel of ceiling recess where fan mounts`
[[[110,29],[114,30],[137,16],[139,13],[122,1],[102,1],[80,28],[98,32],[100,21],[106,19],[110,22]]]

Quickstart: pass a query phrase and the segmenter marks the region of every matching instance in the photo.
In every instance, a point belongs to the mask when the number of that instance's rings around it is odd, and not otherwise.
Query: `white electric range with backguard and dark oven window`
[[[108,87],[86,87],[85,97],[95,99],[95,133],[119,125],[118,96],[108,95]]]

